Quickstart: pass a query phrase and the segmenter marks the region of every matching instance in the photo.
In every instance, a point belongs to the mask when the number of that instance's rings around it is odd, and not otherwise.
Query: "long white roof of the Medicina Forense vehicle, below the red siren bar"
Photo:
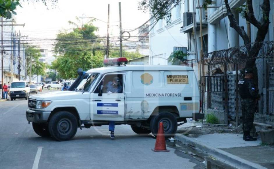
[[[166,66],[166,65],[127,65],[127,66],[107,66],[90,69],[86,73],[108,73],[117,71],[193,71],[189,66]]]

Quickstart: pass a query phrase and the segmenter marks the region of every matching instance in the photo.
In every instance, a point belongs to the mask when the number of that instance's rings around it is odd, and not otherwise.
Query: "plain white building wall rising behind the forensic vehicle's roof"
[[[166,20],[151,20],[151,31],[149,34],[150,64],[168,65],[168,57],[174,50],[185,50],[188,46],[187,34],[181,34],[183,24],[183,13],[185,12],[184,1],[171,10],[170,23]]]

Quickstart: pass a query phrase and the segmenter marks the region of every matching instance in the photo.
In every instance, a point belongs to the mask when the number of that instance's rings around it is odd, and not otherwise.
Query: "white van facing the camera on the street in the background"
[[[17,98],[25,98],[28,100],[30,96],[29,83],[27,81],[17,81],[10,83],[10,100]]]

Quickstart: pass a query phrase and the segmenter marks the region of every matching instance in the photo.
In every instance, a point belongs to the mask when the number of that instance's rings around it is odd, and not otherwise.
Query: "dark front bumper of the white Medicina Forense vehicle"
[[[26,119],[28,122],[47,122],[48,118],[50,117],[51,111],[38,111],[38,110],[30,110],[26,111]]]

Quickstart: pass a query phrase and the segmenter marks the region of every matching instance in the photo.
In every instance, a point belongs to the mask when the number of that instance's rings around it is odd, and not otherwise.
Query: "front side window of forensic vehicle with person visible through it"
[[[98,86],[102,87],[102,93],[123,93],[123,75],[110,74],[105,75]],[[94,93],[98,93],[98,86]]]

